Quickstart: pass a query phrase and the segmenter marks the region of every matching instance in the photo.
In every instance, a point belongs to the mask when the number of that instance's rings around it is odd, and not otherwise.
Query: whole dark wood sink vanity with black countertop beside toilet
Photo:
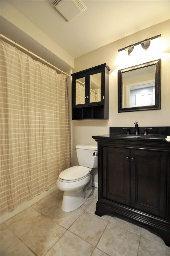
[[[111,128],[115,133],[93,136],[98,142],[95,214],[118,213],[137,220],[170,246],[170,142],[165,140],[169,127],[138,136]]]

